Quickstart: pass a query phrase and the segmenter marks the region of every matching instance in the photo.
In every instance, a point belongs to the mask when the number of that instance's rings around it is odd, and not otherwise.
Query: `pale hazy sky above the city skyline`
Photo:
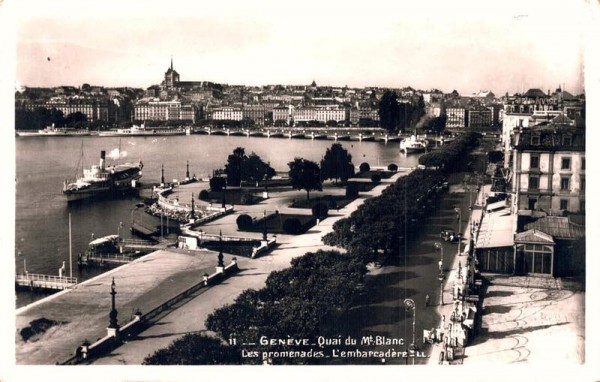
[[[18,3],[16,86],[584,90],[583,0]]]

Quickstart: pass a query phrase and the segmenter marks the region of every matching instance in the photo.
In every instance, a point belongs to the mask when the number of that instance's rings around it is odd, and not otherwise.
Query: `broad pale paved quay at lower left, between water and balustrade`
[[[98,277],[37,301],[16,312],[17,364],[52,365],[72,356],[84,340],[106,335],[110,312],[110,284],[114,277],[119,322],[128,322],[140,309],[148,312],[213,273],[217,254],[212,251],[157,251]],[[230,262],[231,256],[225,261]],[[33,320],[60,322],[41,335],[24,341],[20,329]]]

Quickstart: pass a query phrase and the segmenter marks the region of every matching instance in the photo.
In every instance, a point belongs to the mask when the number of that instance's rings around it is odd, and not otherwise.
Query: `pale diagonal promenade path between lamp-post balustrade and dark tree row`
[[[338,212],[333,213],[318,226],[311,228],[306,234],[299,236],[278,236],[277,240],[280,245],[271,254],[249,260],[246,263],[240,263],[241,271],[238,274],[227,279],[222,284],[204,291],[197,298],[166,315],[156,325],[140,333],[137,338],[115,349],[106,357],[95,360],[93,363],[98,365],[139,365],[147,355],[152,354],[157,349],[168,346],[172,341],[184,334],[205,330],[204,321],[210,313],[225,304],[232,303],[241,292],[248,288],[262,288],[272,271],[289,267],[290,261],[294,257],[302,256],[306,252],[314,252],[319,249],[336,249],[323,245],[321,241],[323,235],[332,231],[333,224],[355,211],[365,199],[381,194],[384,188],[405,174],[406,172],[398,173],[390,179],[382,180],[381,185],[369,192],[361,193],[360,198],[341,208]],[[301,194],[305,196],[304,192]],[[289,199],[289,197],[293,196],[288,195],[286,199]],[[288,202],[276,198],[269,200],[277,200],[275,205],[279,206],[283,206]],[[242,207],[246,208],[247,206]],[[260,206],[253,207],[259,211],[262,211],[264,208]],[[228,218],[231,219],[232,217],[229,216]],[[227,221],[216,221],[212,224],[213,228],[215,226],[220,226],[224,234],[229,233],[228,230],[232,229],[231,222],[228,223]]]

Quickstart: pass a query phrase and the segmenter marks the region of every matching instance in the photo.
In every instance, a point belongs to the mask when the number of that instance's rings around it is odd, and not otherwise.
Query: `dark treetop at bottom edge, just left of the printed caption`
[[[143,365],[239,365],[238,348],[205,334],[186,334],[144,359]]]

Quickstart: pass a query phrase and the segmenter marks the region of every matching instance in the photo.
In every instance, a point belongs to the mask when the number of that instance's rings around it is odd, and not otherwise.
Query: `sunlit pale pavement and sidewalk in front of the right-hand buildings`
[[[489,192],[489,187],[482,187],[477,201],[484,200],[482,193]],[[475,205],[472,221],[479,221],[481,214],[481,205]],[[464,237],[468,242],[468,227]],[[466,256],[454,258],[446,280],[454,280],[459,262],[464,266]],[[566,290],[561,279],[552,277],[483,276],[489,286],[483,297],[481,329],[458,363],[572,366],[584,362],[584,292]],[[438,308],[446,323],[453,308],[449,284],[444,287],[446,304]],[[433,345],[430,364],[438,364],[442,350],[442,344]]]

